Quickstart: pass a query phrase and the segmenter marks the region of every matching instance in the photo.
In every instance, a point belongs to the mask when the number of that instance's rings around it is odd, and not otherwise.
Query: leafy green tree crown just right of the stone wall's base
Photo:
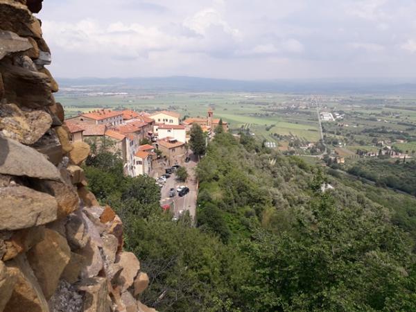
[[[150,278],[141,302],[167,312],[247,311],[250,266],[236,249],[166,215],[137,218],[131,227],[125,247]]]

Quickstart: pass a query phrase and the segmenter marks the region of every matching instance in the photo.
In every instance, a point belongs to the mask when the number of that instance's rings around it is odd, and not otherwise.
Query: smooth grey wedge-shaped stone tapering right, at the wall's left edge
[[[0,136],[0,173],[60,180],[58,168],[41,153],[18,141]]]

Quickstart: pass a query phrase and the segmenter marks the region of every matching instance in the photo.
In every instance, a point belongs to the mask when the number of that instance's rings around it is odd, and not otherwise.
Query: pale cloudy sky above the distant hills
[[[44,0],[55,77],[416,77],[416,0]]]

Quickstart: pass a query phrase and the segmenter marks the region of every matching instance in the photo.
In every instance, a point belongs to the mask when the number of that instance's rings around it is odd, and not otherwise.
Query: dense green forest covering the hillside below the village
[[[85,172],[123,218],[150,277],[140,300],[158,311],[416,311],[411,196],[243,134],[218,133],[198,165],[196,227],[173,222],[155,181],[123,177],[115,155],[90,157]]]

